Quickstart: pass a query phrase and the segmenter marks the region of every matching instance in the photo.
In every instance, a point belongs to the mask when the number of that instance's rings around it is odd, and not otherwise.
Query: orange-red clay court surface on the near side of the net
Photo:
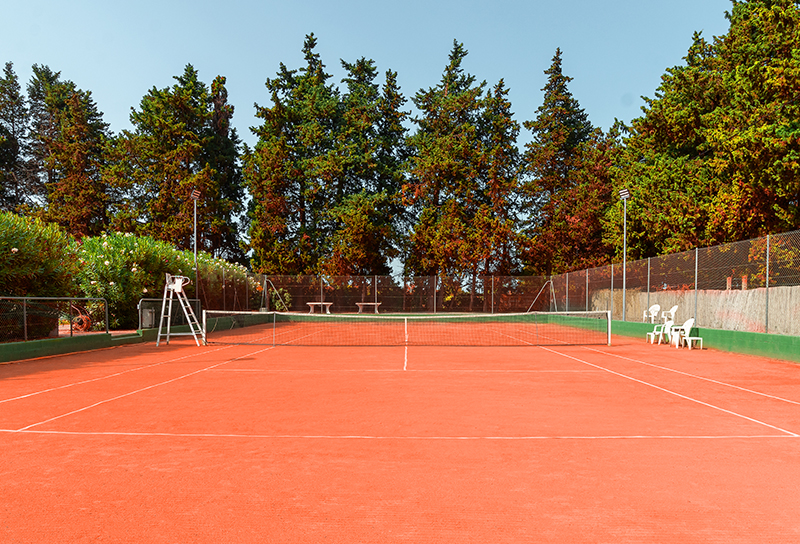
[[[181,339],[0,365],[0,542],[798,542],[800,367]]]

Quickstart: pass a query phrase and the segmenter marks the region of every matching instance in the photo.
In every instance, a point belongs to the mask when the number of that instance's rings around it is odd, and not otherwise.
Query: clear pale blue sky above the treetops
[[[91,91],[119,132],[149,89],[172,85],[191,63],[207,84],[227,77],[233,125],[252,145],[253,104],[269,105],[264,82],[281,62],[303,65],[311,32],[337,84],[339,59],[371,58],[381,74],[398,72],[412,111],[410,98],[436,85],[456,39],[478,81],[505,80],[520,123],[541,105],[544,70],[560,47],[573,96],[608,129],[615,118],[639,116],[640,96],[654,96],[665,70],[683,63],[694,31],[708,39],[727,32],[731,2],[2,0],[0,7],[0,63],[14,63],[23,88],[34,63],[48,65]],[[523,129],[521,143],[527,139]]]

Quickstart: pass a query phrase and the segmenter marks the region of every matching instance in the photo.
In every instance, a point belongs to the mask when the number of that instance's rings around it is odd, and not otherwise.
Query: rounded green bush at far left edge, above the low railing
[[[58,225],[0,212],[0,295],[74,295],[77,249]]]

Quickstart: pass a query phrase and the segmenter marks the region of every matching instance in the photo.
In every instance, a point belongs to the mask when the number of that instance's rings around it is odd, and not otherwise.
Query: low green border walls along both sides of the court
[[[185,331],[181,329],[185,329]],[[188,327],[176,327],[173,331],[188,332],[188,330]],[[652,330],[653,325],[649,323],[611,322],[612,335],[641,338],[642,342],[645,341],[645,335]],[[54,355],[105,349],[126,344],[155,342],[157,335],[158,330],[145,329],[127,335],[98,333],[87,336],[74,336],[72,338],[9,342],[0,344],[0,363],[52,357]],[[800,336],[725,331],[700,327],[692,329],[692,335],[702,337],[703,347],[705,348],[800,363]]]

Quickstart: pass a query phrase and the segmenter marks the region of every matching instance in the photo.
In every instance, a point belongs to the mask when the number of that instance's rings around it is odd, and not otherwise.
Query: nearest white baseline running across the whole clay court
[[[444,441],[444,440],[491,440],[491,441],[536,441],[536,440],[753,440],[765,438],[792,439],[798,435],[541,435],[541,436],[385,436],[385,435],[292,435],[292,434],[234,434],[234,433],[163,433],[163,432],[125,432],[125,431],[42,431],[0,429],[0,434],[35,434],[62,436],[126,436],[163,438],[235,438],[258,440],[402,440],[402,441]]]

